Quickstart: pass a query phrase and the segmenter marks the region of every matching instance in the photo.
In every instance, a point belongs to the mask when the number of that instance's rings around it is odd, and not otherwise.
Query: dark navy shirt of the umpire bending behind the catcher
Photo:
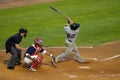
[[[22,36],[20,36],[19,33],[11,36],[10,38],[8,38],[8,40],[6,41],[6,53],[11,51],[11,46],[15,46],[15,44],[19,44],[22,41]]]

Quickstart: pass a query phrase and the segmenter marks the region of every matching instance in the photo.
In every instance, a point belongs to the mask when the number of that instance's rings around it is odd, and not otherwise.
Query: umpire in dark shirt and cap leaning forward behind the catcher
[[[15,65],[21,64],[21,50],[25,49],[19,46],[19,43],[22,41],[23,37],[27,36],[27,30],[20,28],[19,32],[8,38],[5,43],[6,53],[10,53],[12,56],[8,63],[7,68],[13,70]]]

